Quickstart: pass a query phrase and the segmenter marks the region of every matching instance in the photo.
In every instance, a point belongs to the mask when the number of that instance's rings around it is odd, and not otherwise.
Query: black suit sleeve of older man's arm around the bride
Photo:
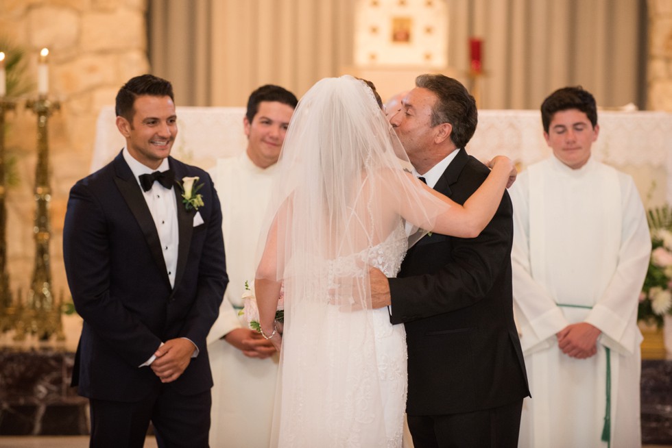
[[[470,193],[479,185],[473,185]],[[451,251],[449,262],[427,274],[389,279],[390,321],[416,321],[466,308],[483,299],[507,266],[512,237],[512,206],[505,192],[492,221],[477,238],[450,238],[450,244],[429,243],[446,245],[446,250]]]

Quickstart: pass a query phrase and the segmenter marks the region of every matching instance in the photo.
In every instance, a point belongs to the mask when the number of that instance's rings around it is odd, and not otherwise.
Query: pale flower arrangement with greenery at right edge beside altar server
[[[639,296],[637,320],[662,327],[665,314],[672,314],[672,209],[649,210],[651,260]]]

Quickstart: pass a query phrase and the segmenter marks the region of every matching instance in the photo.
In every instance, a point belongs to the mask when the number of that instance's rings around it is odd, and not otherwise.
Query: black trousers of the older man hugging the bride
[[[409,415],[415,448],[516,448],[523,399],[465,414]]]

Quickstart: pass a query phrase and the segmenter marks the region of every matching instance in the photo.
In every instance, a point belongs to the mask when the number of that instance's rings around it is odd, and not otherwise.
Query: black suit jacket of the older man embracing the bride
[[[464,203],[490,171],[460,149],[435,190]],[[411,415],[473,412],[529,395],[513,317],[508,193],[477,238],[431,234],[389,279],[392,323],[405,323]]]

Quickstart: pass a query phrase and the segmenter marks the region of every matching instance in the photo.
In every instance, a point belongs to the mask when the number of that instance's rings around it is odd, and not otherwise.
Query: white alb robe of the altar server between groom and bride
[[[242,307],[245,281],[254,284],[259,234],[271,196],[275,166],[261,169],[243,152],[217,160],[211,172],[221,202],[229,284],[219,317],[208,334],[215,386],[210,445],[213,448],[268,447],[271,436],[278,356],[248,358],[222,336],[247,327]]]

